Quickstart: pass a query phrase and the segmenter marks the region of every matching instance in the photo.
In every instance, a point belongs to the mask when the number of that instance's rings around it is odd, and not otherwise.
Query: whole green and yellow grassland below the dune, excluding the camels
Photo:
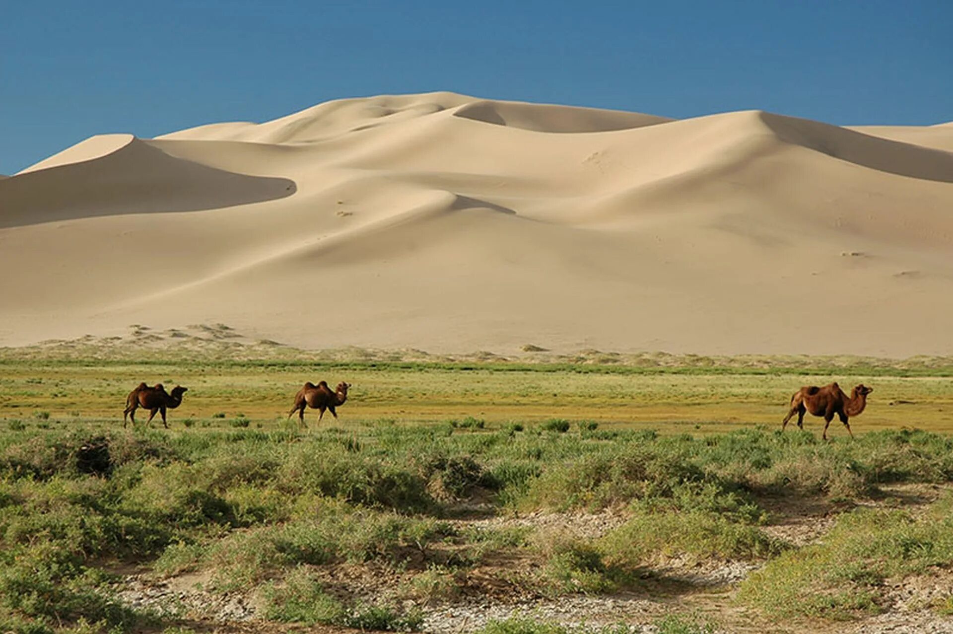
[[[953,378],[935,365],[8,351],[0,631],[456,631],[441,610],[475,604],[503,610],[485,631],[528,634],[622,631],[618,606],[662,632],[943,620]],[[318,378],[354,387],[301,429],[285,415]],[[781,434],[790,394],[832,378],[875,388],[858,438]],[[122,428],[140,380],[189,386],[172,429]],[[543,623],[570,599],[575,621]]]

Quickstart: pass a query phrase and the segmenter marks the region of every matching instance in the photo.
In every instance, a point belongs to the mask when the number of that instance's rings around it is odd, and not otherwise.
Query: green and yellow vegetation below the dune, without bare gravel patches
[[[886,607],[887,580],[953,565],[953,502],[911,514],[883,508],[881,492],[897,483],[953,481],[953,440],[943,434],[864,433],[859,423],[856,440],[822,442],[820,429],[782,434],[703,418],[646,429],[602,419],[598,411],[585,419],[566,418],[566,410],[542,415],[553,394],[575,405],[596,394],[615,412],[659,412],[645,403],[676,399],[704,413],[710,403],[734,399],[728,410],[739,413],[749,401],[773,402],[779,386],[787,392],[801,377],[722,382],[714,374],[645,374],[635,381],[546,368],[507,370],[500,380],[483,366],[364,367],[348,415],[302,429],[281,416],[294,390],[274,387],[301,372],[294,364],[202,366],[191,376],[146,365],[132,374],[185,375],[198,386],[184,406],[192,409],[171,430],[122,430],[115,410],[128,386],[110,377],[128,366],[105,364],[96,372],[106,378],[82,365],[57,366],[59,378],[34,366],[7,367],[0,379],[3,631],[184,626],[115,599],[108,570],[132,562],[152,579],[193,572],[213,594],[259,596],[259,616],[276,622],[398,630],[419,626],[412,604],[430,609],[471,597],[488,578],[508,593],[596,595],[639,588],[672,559],[765,562],[738,592],[765,618],[855,618]],[[236,372],[253,385],[240,405],[247,414],[216,412]],[[949,380],[883,379],[889,380],[916,393],[906,400],[937,410],[953,401]],[[409,383],[422,386],[411,390],[419,403],[400,400]],[[468,392],[458,383],[481,387]],[[50,384],[67,395],[83,390],[84,418],[31,415],[43,413]],[[47,391],[34,392],[37,386]],[[491,388],[499,409],[477,408],[473,403]],[[273,392],[274,411],[267,411]],[[62,411],[77,406],[69,396],[58,399]],[[408,419],[391,409],[376,416],[375,402],[435,414]],[[530,415],[518,418],[520,410],[505,409],[507,402],[525,403]],[[783,414],[780,402],[775,418]],[[878,410],[864,416],[876,423]],[[770,536],[774,506],[765,501],[815,501],[844,514],[822,542],[798,545]],[[850,510],[858,501],[878,507]],[[527,520],[606,510],[618,522],[592,534],[560,534]],[[472,513],[495,514],[501,523],[471,523]],[[515,514],[525,523],[507,523]],[[329,581],[355,574],[393,579],[393,593],[361,603],[346,585]],[[951,609],[948,596],[931,601],[924,609]],[[669,615],[655,626],[713,631],[691,615]],[[485,631],[577,630],[510,620]]]

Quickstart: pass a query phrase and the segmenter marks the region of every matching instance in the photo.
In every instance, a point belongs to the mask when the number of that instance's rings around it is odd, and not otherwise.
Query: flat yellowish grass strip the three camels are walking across
[[[837,380],[845,391],[863,382],[874,387],[855,432],[915,427],[953,432],[953,378],[892,376],[804,376],[797,374],[613,374],[612,369],[498,370],[415,365],[327,369],[307,365],[183,363],[51,359],[8,360],[0,365],[0,419],[122,420],[126,395],[140,381],[189,387],[184,402],[170,412],[183,419],[224,414],[251,419],[255,426],[281,424],[295,392],[306,380],[353,384],[339,409],[339,425],[373,424],[380,419],[417,423],[475,417],[488,424],[543,419],[596,420],[602,426],[649,427],[662,432],[706,433],[779,426],[791,395],[801,385]],[[692,370],[688,370],[692,372]],[[786,371],[785,371],[786,372]],[[140,412],[139,416],[143,416]],[[148,414],[146,414],[148,416]],[[144,419],[145,417],[143,417]],[[311,426],[317,413],[308,411]],[[326,416],[323,425],[331,424]],[[822,419],[807,417],[808,429]],[[842,434],[841,424],[831,424]]]

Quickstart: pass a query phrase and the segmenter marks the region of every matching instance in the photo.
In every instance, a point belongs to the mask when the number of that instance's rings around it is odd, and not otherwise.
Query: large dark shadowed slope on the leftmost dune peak
[[[0,180],[0,228],[103,215],[194,212],[284,198],[289,178],[235,174],[139,139],[105,156]]]

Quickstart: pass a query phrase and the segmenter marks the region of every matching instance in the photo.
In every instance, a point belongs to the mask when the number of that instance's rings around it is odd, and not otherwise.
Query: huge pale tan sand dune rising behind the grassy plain
[[[3,179],[0,267],[0,344],[948,355],[953,127],[345,99]]]

